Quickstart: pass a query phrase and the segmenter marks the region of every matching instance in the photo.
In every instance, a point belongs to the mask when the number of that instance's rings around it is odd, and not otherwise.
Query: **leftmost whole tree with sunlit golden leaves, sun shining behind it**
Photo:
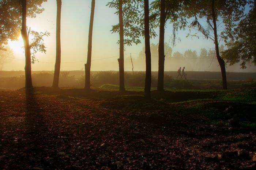
[[[41,4],[47,0],[2,0],[0,1],[0,8],[4,9],[3,19],[1,17],[1,32],[0,32],[0,48],[6,44],[8,40],[16,40],[19,35],[20,26],[21,35],[24,41],[25,49],[25,78],[26,88],[32,87],[31,79],[31,63],[34,63],[35,54],[38,51],[46,52],[43,37],[49,36],[48,32],[35,32],[27,27],[26,17],[35,17],[44,11]],[[5,17],[6,16],[6,17]],[[3,31],[2,31],[3,30]],[[33,35],[31,43],[29,43],[29,35]],[[32,49],[32,51],[30,51]]]

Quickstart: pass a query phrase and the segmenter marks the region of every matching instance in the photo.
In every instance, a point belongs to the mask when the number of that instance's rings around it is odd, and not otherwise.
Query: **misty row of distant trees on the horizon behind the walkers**
[[[151,50],[151,67],[153,71],[158,70],[158,44],[152,43],[150,45]],[[219,46],[220,52],[224,51],[224,46]],[[134,70],[143,71],[146,69],[145,64],[145,47],[139,52],[139,54],[131,53],[133,59]],[[254,64],[250,63],[253,67]],[[165,43],[165,70],[175,71],[179,67],[186,67],[187,71],[219,71],[219,63],[216,58],[216,52],[214,49],[201,48],[200,53],[195,50],[188,49],[184,53],[179,51],[173,52],[172,47]],[[233,66],[227,65],[227,71],[239,72],[240,63]],[[126,70],[131,70],[131,58],[128,56],[125,59]],[[251,67],[247,68],[251,70]]]

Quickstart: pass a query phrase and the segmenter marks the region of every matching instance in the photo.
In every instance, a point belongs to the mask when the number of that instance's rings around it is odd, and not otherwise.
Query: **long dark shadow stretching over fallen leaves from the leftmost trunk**
[[[26,90],[25,129],[26,129],[26,157],[30,166],[45,167],[48,156],[48,128],[39,106],[39,99],[33,89]]]

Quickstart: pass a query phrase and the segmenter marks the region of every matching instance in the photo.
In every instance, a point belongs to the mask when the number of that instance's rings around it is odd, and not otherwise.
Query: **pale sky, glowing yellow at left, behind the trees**
[[[114,14],[116,9],[109,8],[106,4],[110,0],[96,0],[93,23],[93,48],[91,70],[118,70],[117,58],[119,55],[118,33],[112,33],[112,25],[118,23],[118,16]],[[62,0],[61,9],[61,70],[83,70],[87,56],[88,32],[90,23],[91,0]],[[56,0],[48,0],[42,4],[45,11],[36,18],[27,18],[27,26],[38,32],[48,31],[49,37],[45,37],[46,54],[37,53],[38,62],[32,65],[32,70],[54,70],[55,48],[56,48]],[[158,30],[156,32],[158,34]],[[185,50],[196,50],[200,54],[201,48],[214,49],[211,40],[186,37],[188,30],[178,31],[176,46],[172,47],[173,52]],[[165,29],[165,41],[170,43],[172,35],[171,25]],[[132,58],[137,58],[144,47],[142,43],[133,46],[125,46],[125,57],[130,53]],[[150,40],[150,43],[157,44],[159,37]],[[170,43],[171,44],[171,43]],[[9,41],[9,46],[14,51],[11,62],[4,65],[3,70],[24,70],[25,55],[23,52],[23,41]],[[113,57],[113,58],[110,58]],[[108,58],[108,59],[104,59]],[[169,70],[166,70],[169,71]]]

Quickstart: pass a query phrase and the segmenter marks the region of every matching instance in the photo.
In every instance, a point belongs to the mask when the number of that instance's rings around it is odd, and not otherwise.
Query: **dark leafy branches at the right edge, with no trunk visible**
[[[230,65],[241,62],[240,66],[242,69],[247,68],[246,63],[250,61],[256,64],[255,4],[255,0],[253,3],[249,3],[249,12],[241,19],[235,29],[228,30],[230,36],[225,37],[226,45],[229,48],[222,52],[223,59],[226,59]]]

